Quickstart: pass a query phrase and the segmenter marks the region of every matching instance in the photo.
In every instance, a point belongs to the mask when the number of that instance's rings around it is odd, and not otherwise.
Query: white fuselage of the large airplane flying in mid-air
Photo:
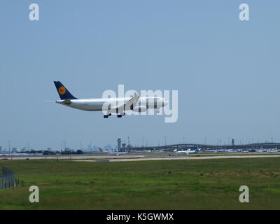
[[[69,106],[74,109],[79,109],[83,111],[103,111],[105,108],[104,104],[108,108],[108,105],[111,108],[118,105],[126,103],[131,98],[98,98],[98,99],[66,99],[66,100],[57,100],[57,104],[62,104]],[[147,109],[160,109],[163,106],[166,106],[168,102],[162,97],[140,97],[136,106],[146,106]],[[109,107],[110,107],[109,106]]]

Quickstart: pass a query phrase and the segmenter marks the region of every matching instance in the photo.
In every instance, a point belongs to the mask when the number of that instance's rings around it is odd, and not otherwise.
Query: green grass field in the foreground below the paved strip
[[[143,162],[0,161],[25,186],[0,209],[280,209],[280,158]],[[29,202],[29,186],[40,202]],[[250,202],[239,202],[239,186]]]

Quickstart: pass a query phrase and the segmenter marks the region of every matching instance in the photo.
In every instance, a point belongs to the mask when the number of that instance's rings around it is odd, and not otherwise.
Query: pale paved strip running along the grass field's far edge
[[[74,160],[78,162],[123,162],[123,161],[151,161],[151,160],[215,160],[215,159],[239,159],[239,158],[276,158],[280,155],[217,155],[217,156],[195,156],[195,157],[169,157],[169,158],[127,158],[113,160]]]

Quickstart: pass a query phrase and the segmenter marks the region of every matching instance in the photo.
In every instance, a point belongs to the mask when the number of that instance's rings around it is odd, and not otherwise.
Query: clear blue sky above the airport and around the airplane
[[[38,3],[40,20],[29,21]],[[239,20],[248,3],[250,21]],[[0,3],[0,146],[78,148],[218,139],[280,141],[279,1],[21,1]],[[76,97],[104,90],[178,90],[179,120],[104,119],[46,102],[53,80]]]

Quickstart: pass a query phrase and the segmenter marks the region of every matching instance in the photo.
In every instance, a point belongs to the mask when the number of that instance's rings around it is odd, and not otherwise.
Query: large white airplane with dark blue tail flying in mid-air
[[[125,111],[145,112],[147,109],[157,109],[166,106],[169,102],[162,97],[139,97],[137,92],[134,97],[78,99],[74,97],[59,81],[54,81],[61,100],[57,104],[69,106],[82,111],[106,111],[104,118],[109,118],[116,113],[118,118],[125,115]],[[120,104],[117,106],[117,104]]]

